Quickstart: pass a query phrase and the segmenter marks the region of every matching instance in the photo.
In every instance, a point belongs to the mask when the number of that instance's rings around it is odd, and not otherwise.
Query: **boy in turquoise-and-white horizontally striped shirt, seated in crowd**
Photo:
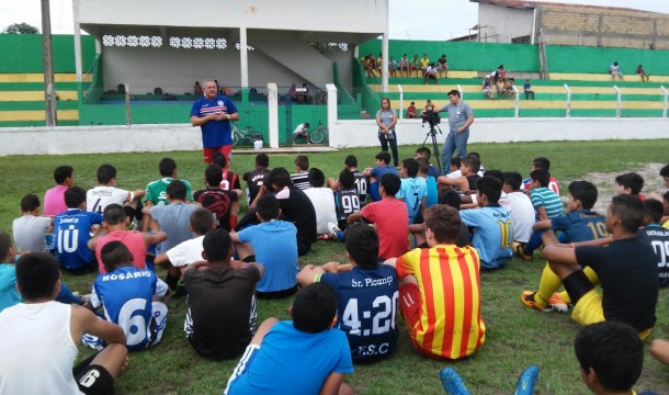
[[[530,173],[530,179],[526,189],[530,191],[530,200],[536,212],[536,221],[545,222],[563,215],[563,201],[557,193],[548,188],[551,173],[543,169],[534,170]],[[542,232],[534,229],[525,245],[514,242],[513,251],[524,260],[531,261],[534,250],[542,245]]]

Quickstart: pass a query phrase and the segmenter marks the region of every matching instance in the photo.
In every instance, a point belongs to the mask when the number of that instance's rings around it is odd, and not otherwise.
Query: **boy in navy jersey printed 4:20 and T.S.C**
[[[397,342],[397,273],[392,266],[378,263],[378,236],[373,227],[350,225],[345,247],[348,264],[307,264],[297,281],[332,286],[339,300],[337,327],[349,338],[353,361],[376,361],[388,357]]]

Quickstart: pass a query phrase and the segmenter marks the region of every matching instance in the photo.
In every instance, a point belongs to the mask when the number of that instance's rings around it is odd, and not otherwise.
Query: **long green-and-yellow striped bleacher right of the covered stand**
[[[474,76],[462,78],[463,75]],[[381,78],[370,77],[366,82],[379,97],[387,95],[393,101],[393,108],[398,109],[401,86],[404,111],[411,101],[417,108],[422,108],[428,99],[436,106],[444,105],[452,89],[457,86],[463,91],[464,100],[472,105],[476,116],[514,116],[514,100],[489,100],[481,92],[483,79],[476,71],[449,71],[447,78],[440,79],[439,84],[430,81],[424,84],[422,78],[389,78],[388,92],[382,93]],[[508,77],[513,77],[509,72]],[[611,76],[588,74],[552,74],[551,79],[531,79],[535,100],[525,100],[522,86],[524,78],[517,78],[519,90],[519,116],[565,116],[567,108],[567,84],[571,91],[570,116],[604,116],[616,115],[617,93],[621,90],[621,116],[650,116],[662,115],[664,92],[661,86],[669,88],[669,76],[651,76],[650,82],[640,82],[638,76],[626,76],[624,81],[611,80]],[[497,94],[495,95],[497,98]]]

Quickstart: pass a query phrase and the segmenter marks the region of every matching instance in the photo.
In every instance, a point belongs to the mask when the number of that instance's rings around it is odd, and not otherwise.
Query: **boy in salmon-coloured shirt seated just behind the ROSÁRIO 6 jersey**
[[[111,241],[121,241],[133,255],[133,263],[137,269],[147,268],[147,258],[152,263],[152,256],[147,256],[146,249],[149,246],[165,241],[167,234],[165,232],[156,233],[138,233],[126,230],[129,218],[125,216],[125,211],[120,204],[112,203],[104,207],[102,212],[104,222],[102,223],[102,232],[89,240],[88,247],[95,251],[98,260],[98,269],[101,274],[106,273],[106,267],[101,260],[102,248]]]

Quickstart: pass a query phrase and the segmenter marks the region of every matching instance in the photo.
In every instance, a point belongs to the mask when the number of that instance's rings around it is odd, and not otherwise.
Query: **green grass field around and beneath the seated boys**
[[[611,140],[569,143],[515,143],[470,145],[480,153],[487,169],[529,172],[532,158],[546,156],[552,160],[552,172],[560,181],[575,180],[589,172],[632,171],[644,163],[667,162],[667,140]],[[416,146],[399,147],[400,157],[412,157]],[[311,155],[311,167],[334,177],[343,158],[358,156],[360,167],[373,165],[377,148],[347,149],[333,154]],[[75,167],[75,183],[88,189],[95,184],[95,170],[112,163],[118,170],[117,185],[124,189],[144,188],[158,178],[158,161],[172,157],[179,165],[179,176],[194,189],[202,185],[204,165],[200,153],[114,154],[72,156],[21,156],[0,158],[0,229],[10,230],[11,222],[20,215],[21,196],[34,192],[44,196],[53,184],[53,169],[59,165]],[[271,167],[283,166],[293,171],[294,156],[272,156]],[[239,173],[252,168],[252,155],[236,155],[234,170]],[[659,177],[659,176],[658,176]],[[563,182],[563,193],[566,182]],[[301,258],[301,264],[344,260],[341,244],[318,241],[313,252]],[[530,364],[541,368],[536,394],[587,394],[574,357],[572,341],[578,326],[567,315],[545,314],[524,307],[519,294],[536,289],[544,261],[514,259],[504,269],[481,273],[483,317],[486,323],[486,343],[470,358],[455,362],[428,360],[413,351],[404,323],[398,317],[400,337],[389,359],[358,365],[347,381],[359,394],[440,394],[439,371],[455,366],[473,394],[511,394],[520,372]],[[163,278],[162,271],[160,276]],[[89,293],[94,275],[65,274],[71,289]],[[291,300],[260,301],[259,319],[276,316],[287,318]],[[657,325],[648,340],[669,338],[669,291],[660,293]],[[131,364],[117,382],[120,394],[214,394],[220,393],[237,361],[212,362],[199,357],[182,335],[185,300],[170,304],[170,317],[162,342],[156,348],[131,356]],[[647,340],[647,341],[648,341]],[[82,349],[81,354],[88,354]],[[658,394],[669,393],[669,366],[646,358],[637,391],[650,388]],[[299,380],[299,377],[295,377]]]

